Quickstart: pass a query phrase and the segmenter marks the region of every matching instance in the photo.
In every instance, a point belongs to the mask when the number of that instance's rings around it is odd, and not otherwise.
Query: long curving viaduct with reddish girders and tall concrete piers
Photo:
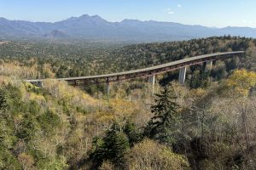
[[[167,71],[174,71],[179,69],[178,82],[184,84],[186,77],[187,67],[190,65],[198,65],[201,63],[206,63],[206,71],[212,68],[213,60],[222,60],[232,58],[237,55],[244,54],[244,51],[236,52],[225,52],[225,53],[215,53],[215,54],[205,54],[200,56],[195,56],[186,59],[176,60],[163,65],[156,65],[144,69],[139,69],[135,71],[125,71],[113,74],[90,76],[90,77],[70,77],[70,78],[57,78],[58,81],[66,81],[74,86],[81,86],[88,83],[107,83],[107,91],[109,93],[109,82],[119,82],[129,79],[135,79],[138,77],[149,77],[149,80],[153,87],[154,93],[154,76]],[[44,79],[38,80],[26,80],[26,82],[31,82],[37,86],[42,86]]]

